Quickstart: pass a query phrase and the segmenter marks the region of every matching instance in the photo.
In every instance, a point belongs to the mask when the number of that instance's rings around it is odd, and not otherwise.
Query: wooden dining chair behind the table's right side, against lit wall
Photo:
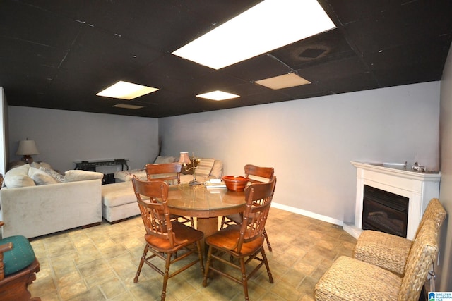
[[[245,165],[245,176],[249,178],[249,183],[266,183],[270,181],[275,175],[275,170],[273,167],[260,167],[252,164]],[[241,224],[243,219],[243,213],[230,214],[223,216],[221,219],[220,229],[225,228],[225,226],[233,224]],[[268,240],[267,231],[264,229],[263,235],[266,238],[267,247],[270,252],[272,252],[270,240]]]

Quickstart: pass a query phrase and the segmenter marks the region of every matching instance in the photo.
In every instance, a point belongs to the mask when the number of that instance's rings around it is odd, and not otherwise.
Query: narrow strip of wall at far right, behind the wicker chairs
[[[448,216],[441,227],[439,291],[452,291],[452,48],[441,80],[441,188],[439,200]]]

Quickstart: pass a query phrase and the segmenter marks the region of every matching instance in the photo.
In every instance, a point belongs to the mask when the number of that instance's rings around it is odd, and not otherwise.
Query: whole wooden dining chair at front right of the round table
[[[267,269],[268,280],[273,283],[270,266],[268,266],[266,253],[263,250],[263,231],[270,211],[275,184],[276,178],[273,177],[268,183],[254,184],[245,188],[246,209],[243,215],[243,223],[228,226],[206,238],[209,250],[203,286],[207,285],[209,271],[213,271],[230,278],[232,281],[242,283],[245,300],[249,300],[248,280],[263,264]],[[261,254],[261,257],[258,257],[259,254]],[[238,259],[238,263],[235,264],[234,261],[228,260],[228,256]],[[253,259],[256,259],[258,264],[253,264],[254,269],[247,273],[246,265]],[[230,273],[228,272],[230,269],[214,267],[215,261],[232,266],[234,270]],[[237,270],[240,273],[234,273]]]

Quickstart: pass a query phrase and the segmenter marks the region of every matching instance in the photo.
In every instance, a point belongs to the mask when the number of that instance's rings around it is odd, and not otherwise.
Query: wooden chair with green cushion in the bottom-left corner
[[[4,222],[0,221],[0,226]],[[0,239],[0,300],[33,300],[28,285],[36,280],[40,263],[25,236],[14,235]]]

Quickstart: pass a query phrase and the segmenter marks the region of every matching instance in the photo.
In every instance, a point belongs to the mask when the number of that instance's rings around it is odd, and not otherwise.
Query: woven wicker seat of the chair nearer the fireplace
[[[412,240],[379,231],[361,233],[353,257],[403,275]]]

